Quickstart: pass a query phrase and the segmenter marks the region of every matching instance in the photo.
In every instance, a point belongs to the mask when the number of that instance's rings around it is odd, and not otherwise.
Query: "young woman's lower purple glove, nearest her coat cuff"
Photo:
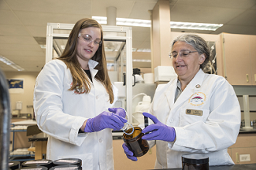
[[[105,128],[111,128],[114,131],[120,130],[127,122],[122,116],[115,113],[102,112],[94,118],[87,120],[86,126],[84,128],[85,132],[102,131]]]

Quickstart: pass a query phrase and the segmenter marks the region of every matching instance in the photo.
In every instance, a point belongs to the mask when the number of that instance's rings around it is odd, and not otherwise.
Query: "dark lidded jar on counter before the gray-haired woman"
[[[209,157],[203,153],[183,155],[182,170],[209,170]]]

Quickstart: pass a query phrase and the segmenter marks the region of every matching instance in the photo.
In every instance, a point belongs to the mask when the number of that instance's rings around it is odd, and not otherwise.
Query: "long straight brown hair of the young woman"
[[[91,91],[91,83],[86,73],[83,72],[79,61],[77,60],[76,46],[80,30],[90,27],[101,29],[102,44],[98,46],[98,50],[96,51],[95,55],[91,57],[91,60],[98,62],[98,65],[95,67],[95,69],[98,69],[98,72],[95,75],[95,79],[98,79],[98,81],[100,81],[104,85],[106,91],[109,94],[110,103],[113,103],[113,86],[110,82],[106,68],[106,55],[103,44],[102,26],[98,24],[96,20],[90,18],[83,18],[76,22],[75,26],[70,32],[67,45],[65,46],[65,50],[61,54],[61,57],[58,57],[58,59],[65,62],[72,74],[72,87],[70,87],[69,91],[75,90],[78,94],[89,93]]]

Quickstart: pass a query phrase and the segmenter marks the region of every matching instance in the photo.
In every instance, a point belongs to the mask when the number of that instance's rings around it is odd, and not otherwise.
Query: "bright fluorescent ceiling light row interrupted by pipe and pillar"
[[[107,24],[106,17],[92,16],[92,19],[97,20],[99,24]],[[129,18],[117,18],[117,25],[122,26],[137,26],[137,27],[151,27],[151,20],[138,20]],[[193,29],[193,30],[209,30],[215,31],[222,27],[223,24],[206,24],[206,23],[189,23],[189,22],[170,22],[170,28],[178,29]]]

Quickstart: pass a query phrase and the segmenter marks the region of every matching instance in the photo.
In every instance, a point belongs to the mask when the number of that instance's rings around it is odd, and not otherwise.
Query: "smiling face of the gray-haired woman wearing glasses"
[[[198,72],[200,65],[205,61],[204,54],[198,52],[190,53],[187,56],[180,56],[180,52],[196,51],[195,48],[187,42],[175,42],[172,52],[179,53],[176,58],[173,57],[173,68],[180,80],[190,82]]]

